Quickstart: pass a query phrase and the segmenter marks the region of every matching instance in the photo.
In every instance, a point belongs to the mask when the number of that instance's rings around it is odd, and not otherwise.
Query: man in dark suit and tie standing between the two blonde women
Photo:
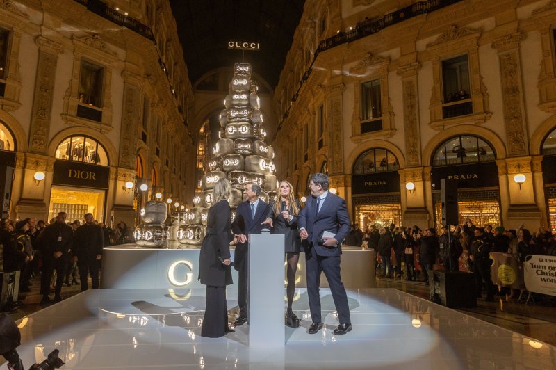
[[[247,273],[249,271],[249,251],[247,250],[249,234],[261,234],[266,219],[267,207],[262,199],[261,186],[252,182],[245,184],[243,197],[247,200],[236,210],[236,218],[231,224],[231,230],[237,236],[238,244],[234,255],[234,268],[238,271],[238,305],[239,316],[234,326],[243,325],[247,322]]]

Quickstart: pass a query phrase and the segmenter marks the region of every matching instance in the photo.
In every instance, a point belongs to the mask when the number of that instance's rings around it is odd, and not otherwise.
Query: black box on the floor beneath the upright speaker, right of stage
[[[475,275],[460,271],[430,271],[431,300],[450,308],[477,307]]]

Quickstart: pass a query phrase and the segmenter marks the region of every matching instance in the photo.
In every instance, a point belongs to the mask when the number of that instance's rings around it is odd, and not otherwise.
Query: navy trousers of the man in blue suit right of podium
[[[334,306],[338,312],[340,323],[351,323],[350,306],[347,304],[347,294],[343,287],[340,275],[340,256],[322,257],[316,255],[313,250],[305,253],[307,271],[307,294],[309,296],[309,309],[313,323],[322,323],[320,312],[320,273],[324,271],[326,280],[334,299]]]

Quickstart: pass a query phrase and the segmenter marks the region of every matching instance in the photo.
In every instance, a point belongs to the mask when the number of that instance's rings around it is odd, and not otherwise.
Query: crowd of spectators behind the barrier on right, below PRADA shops
[[[357,230],[355,224],[350,235],[356,234]],[[434,269],[466,271],[475,275],[477,297],[485,293],[486,300],[493,300],[493,296],[500,293],[505,293],[507,298],[514,296],[512,289],[497,289],[493,285],[491,252],[508,253],[521,262],[527,255],[556,255],[556,236],[546,227],[535,232],[530,232],[525,225],[518,230],[507,230],[502,226],[478,227],[468,219],[452,230],[441,227],[438,233],[434,228],[420,230],[418,226],[391,224],[384,227],[370,225],[361,234],[361,244],[376,251],[377,266],[381,267],[379,277],[420,280],[429,284],[429,271]],[[357,239],[347,241],[347,244],[359,246]]]

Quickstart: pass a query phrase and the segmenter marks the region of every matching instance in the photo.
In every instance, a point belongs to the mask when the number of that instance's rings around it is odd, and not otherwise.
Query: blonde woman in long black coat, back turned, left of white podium
[[[228,199],[231,185],[228,179],[216,182],[213,205],[208,209],[206,235],[199,257],[199,280],[206,285],[206,307],[201,336],[218,338],[234,332],[228,325],[226,286],[233,284],[230,270],[231,210]]]

